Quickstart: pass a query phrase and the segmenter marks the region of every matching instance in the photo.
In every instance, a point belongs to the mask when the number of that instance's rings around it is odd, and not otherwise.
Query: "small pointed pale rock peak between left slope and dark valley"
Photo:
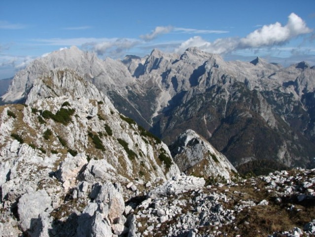
[[[222,177],[228,182],[237,174],[228,159],[193,130],[180,134],[170,150],[180,171],[186,174]]]

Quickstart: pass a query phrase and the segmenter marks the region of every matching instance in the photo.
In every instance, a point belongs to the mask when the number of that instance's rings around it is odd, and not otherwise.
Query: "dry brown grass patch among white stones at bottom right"
[[[220,188],[230,190],[227,194],[231,201],[223,203],[225,208],[233,209],[233,206],[241,200],[253,200],[256,204],[263,199],[269,201],[269,205],[245,207],[241,212],[236,213],[236,222],[220,228],[222,233],[231,237],[236,235],[266,237],[277,231],[292,230],[294,227],[303,229],[306,223],[315,219],[314,200],[313,204],[310,201],[292,203],[297,202],[296,198],[282,197],[282,203],[278,204],[275,202],[275,193],[267,192],[265,189],[266,183],[258,178],[255,181],[255,185],[251,185],[252,182],[248,181],[244,186]],[[241,193],[235,194],[234,191]],[[289,210],[293,204],[293,210]]]

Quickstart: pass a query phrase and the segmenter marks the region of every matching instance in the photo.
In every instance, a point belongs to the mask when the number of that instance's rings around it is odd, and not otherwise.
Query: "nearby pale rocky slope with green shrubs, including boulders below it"
[[[36,78],[25,101],[0,107],[1,236],[121,234],[124,198],[179,175],[164,143],[73,70]]]

